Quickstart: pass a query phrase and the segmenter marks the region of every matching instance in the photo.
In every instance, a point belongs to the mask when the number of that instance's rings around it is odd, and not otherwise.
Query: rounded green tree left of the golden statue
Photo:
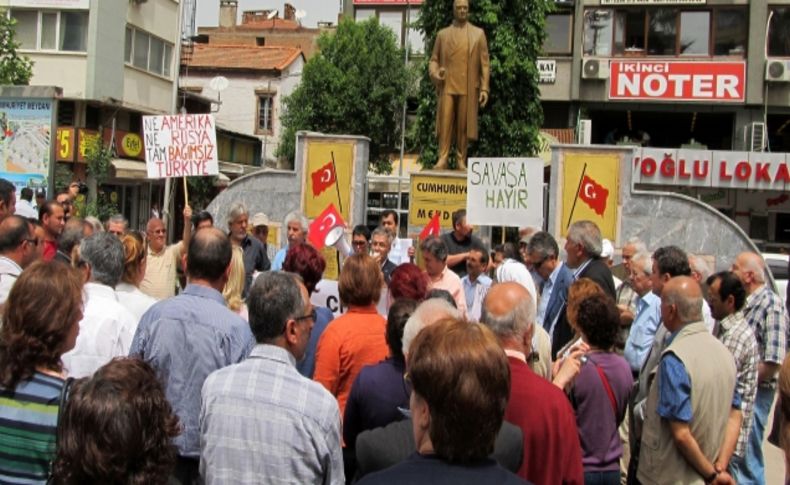
[[[376,18],[345,19],[318,39],[319,53],[285,100],[277,155],[293,160],[298,130],[370,138],[370,161],[388,166],[400,144],[408,70],[392,30]]]

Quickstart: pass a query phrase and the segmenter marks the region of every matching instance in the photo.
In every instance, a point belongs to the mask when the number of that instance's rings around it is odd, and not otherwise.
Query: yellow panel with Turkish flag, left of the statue
[[[334,167],[332,167],[333,155]],[[331,181],[333,172],[336,182]],[[340,215],[343,216],[343,220],[350,223],[353,180],[353,141],[307,141],[303,194],[304,212],[308,218],[313,219],[319,216],[329,204],[334,204]],[[339,195],[338,187],[340,187]]]

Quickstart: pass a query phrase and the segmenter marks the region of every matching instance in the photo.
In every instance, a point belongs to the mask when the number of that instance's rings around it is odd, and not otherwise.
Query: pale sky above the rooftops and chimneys
[[[290,3],[296,9],[304,10],[307,15],[302,19],[305,27],[315,27],[320,21],[337,23],[340,0],[239,0],[239,18],[244,10],[264,10],[276,8],[283,16],[283,5]],[[198,0],[196,25],[214,27],[219,17],[219,0]]]

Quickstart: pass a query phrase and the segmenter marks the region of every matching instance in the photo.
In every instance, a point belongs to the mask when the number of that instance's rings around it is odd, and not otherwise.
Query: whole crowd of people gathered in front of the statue
[[[242,204],[168,245],[30,196],[0,179],[2,483],[759,484],[766,430],[790,449],[756,253],[631,239],[617,280],[590,221],[488,248],[458,211],[415,248],[386,211],[335,316],[299,212],[270,262]]]

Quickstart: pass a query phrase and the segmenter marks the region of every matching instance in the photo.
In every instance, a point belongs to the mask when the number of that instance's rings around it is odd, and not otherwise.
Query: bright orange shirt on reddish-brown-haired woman
[[[389,354],[386,331],[387,321],[374,305],[351,307],[318,339],[313,379],[337,398],[340,416],[345,413],[351,385],[362,367],[377,364]]]

